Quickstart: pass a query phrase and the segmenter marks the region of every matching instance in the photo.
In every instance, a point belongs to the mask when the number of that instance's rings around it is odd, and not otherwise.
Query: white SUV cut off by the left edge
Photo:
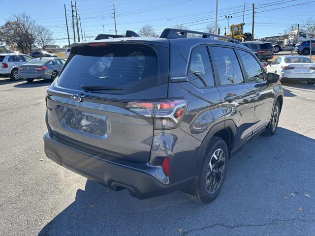
[[[0,76],[18,80],[18,67],[32,59],[22,53],[0,53]]]

